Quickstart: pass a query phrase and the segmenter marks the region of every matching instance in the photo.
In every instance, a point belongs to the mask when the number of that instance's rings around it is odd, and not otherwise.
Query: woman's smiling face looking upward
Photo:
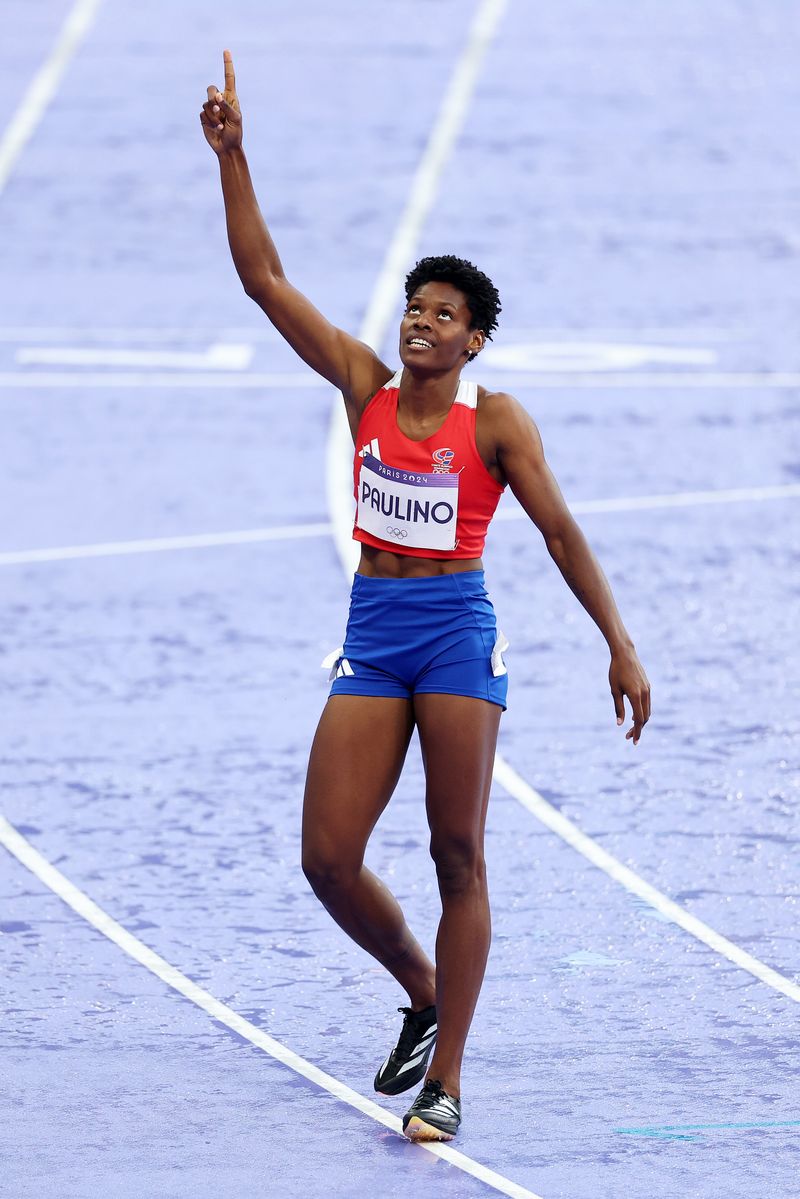
[[[421,284],[401,321],[401,362],[429,370],[463,366],[486,341],[482,330],[470,329],[471,320],[464,293],[452,283]]]

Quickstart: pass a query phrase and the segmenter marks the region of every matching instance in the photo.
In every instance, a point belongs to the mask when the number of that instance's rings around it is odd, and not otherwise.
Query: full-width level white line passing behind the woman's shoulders
[[[365,321],[366,324],[366,321]],[[381,338],[375,336],[362,336],[361,341],[369,345],[378,345]],[[174,355],[173,355],[174,356]],[[704,370],[686,370],[680,374],[652,372],[651,374],[625,373],[625,374],[596,374],[582,370],[570,370],[547,374],[531,370],[528,374],[506,374],[498,370],[491,380],[495,391],[510,391],[511,388],[528,388],[536,391],[595,388],[603,391],[607,388],[619,390],[622,387],[652,390],[666,387],[672,391],[688,388],[697,391],[708,388],[717,391],[720,388],[733,390],[758,390],[777,388],[794,391],[800,388],[800,374],[781,373],[776,370],[764,370],[750,374],[718,374]],[[175,372],[173,374],[155,374],[136,370],[5,370],[0,372],[0,391],[20,390],[76,390],[82,387],[106,387],[130,388],[149,387],[150,390],[163,388],[174,390],[187,387],[224,386],[230,390],[253,391],[265,387],[330,387],[330,384],[321,375],[301,370],[285,372],[284,374],[257,374],[242,372],[241,374],[224,373],[218,370],[210,376],[193,372]]]

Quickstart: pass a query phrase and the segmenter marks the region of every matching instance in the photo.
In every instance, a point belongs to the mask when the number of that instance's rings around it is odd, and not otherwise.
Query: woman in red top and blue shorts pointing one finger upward
[[[626,736],[634,745],[650,716],[649,686],[534,422],[511,396],[461,378],[497,329],[491,281],[450,254],[417,263],[405,281],[397,372],[331,325],[289,283],[264,224],[227,50],[224,77],[224,95],[207,89],[200,121],[219,161],[236,271],[300,357],[342,392],[355,442],[353,535],[361,560],[311,752],[302,868],[333,920],[409,998],[375,1090],[398,1095],[423,1081],[403,1119],[405,1135],[451,1140],[491,939],[483,829],[507,676],[481,553],[506,486],[608,643],[616,722],[627,695],[633,725]],[[441,896],[435,968],[397,900],[363,864],[414,728]]]

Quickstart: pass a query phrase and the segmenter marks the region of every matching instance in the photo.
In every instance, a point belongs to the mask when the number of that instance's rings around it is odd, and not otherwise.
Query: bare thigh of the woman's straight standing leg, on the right
[[[467,695],[414,697],[434,858],[482,854],[501,711]]]

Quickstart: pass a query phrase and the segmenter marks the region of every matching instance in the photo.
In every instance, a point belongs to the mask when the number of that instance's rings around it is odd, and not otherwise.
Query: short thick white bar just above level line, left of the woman
[[[18,349],[14,357],[20,366],[246,370],[253,361],[253,347],[241,342],[215,342],[204,350],[137,350],[130,347],[107,345],[30,345]]]

